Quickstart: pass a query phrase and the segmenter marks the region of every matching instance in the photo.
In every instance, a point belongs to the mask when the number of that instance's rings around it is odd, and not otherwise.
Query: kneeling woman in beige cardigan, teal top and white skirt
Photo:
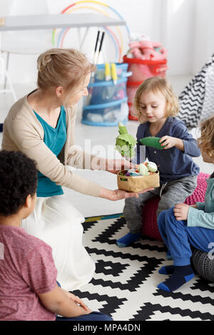
[[[57,280],[72,290],[91,280],[95,264],[82,245],[84,217],[66,200],[62,186],[108,200],[138,194],[108,190],[66,168],[89,168],[89,161],[91,170],[116,172],[116,160],[98,159],[74,145],[76,104],[88,95],[91,63],[79,51],[53,48],[39,56],[38,70],[38,88],[9,110],[2,149],[20,150],[37,163],[37,203],[22,227],[52,247]],[[126,160],[121,164],[130,167]]]

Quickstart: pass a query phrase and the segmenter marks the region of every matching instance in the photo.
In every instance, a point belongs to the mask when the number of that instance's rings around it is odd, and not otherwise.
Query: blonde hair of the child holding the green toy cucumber
[[[138,112],[138,120],[141,120],[141,108],[140,108],[140,98],[143,93],[148,93],[152,91],[153,93],[162,93],[165,96],[166,108],[165,108],[165,118],[169,116],[176,116],[179,111],[178,98],[173,92],[171,84],[165,79],[160,77],[151,77],[143,81],[136,91],[136,95],[133,100],[133,108]],[[142,122],[143,123],[143,122]]]

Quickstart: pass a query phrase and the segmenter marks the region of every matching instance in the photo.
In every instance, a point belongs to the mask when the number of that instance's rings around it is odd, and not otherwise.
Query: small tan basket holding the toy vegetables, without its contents
[[[121,171],[126,174],[126,170]],[[141,192],[149,187],[159,187],[160,186],[160,176],[159,172],[152,175],[142,175],[141,177],[133,177],[126,175],[119,175],[118,172],[118,188],[120,190],[125,190],[128,192]]]

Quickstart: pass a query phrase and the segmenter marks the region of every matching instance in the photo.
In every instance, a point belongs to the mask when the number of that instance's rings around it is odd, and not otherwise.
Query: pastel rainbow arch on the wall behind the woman
[[[106,6],[108,9],[113,11],[113,13],[115,13],[121,20],[123,20],[123,17],[121,16],[121,14],[118,13],[118,11],[116,11],[116,9],[113,9],[113,7],[108,6],[107,4],[105,4],[101,1],[96,1],[96,0],[77,1],[76,3],[73,3],[69,6],[67,6],[65,9],[63,9],[63,11],[61,11],[61,14],[71,14],[71,12],[76,11],[78,9],[92,9],[93,11],[98,11],[101,14],[110,17],[110,15],[108,13],[106,13],[106,11],[102,11],[101,9],[98,9],[96,7],[93,7],[93,6],[79,6],[79,7],[71,9],[73,6],[76,6],[78,4],[84,4],[84,3],[93,3],[93,4],[98,4],[98,5],[101,5],[101,6]],[[116,61],[120,62],[121,58],[122,58],[122,53],[123,53],[123,36],[122,36],[121,30],[118,27],[116,27],[116,29],[118,31],[119,38],[120,38],[120,41],[118,41],[118,37],[116,36],[115,33],[113,33],[113,31],[111,29],[109,29],[107,27],[103,27],[103,29],[106,31],[106,33],[108,33],[108,36],[113,41],[113,44],[114,44],[115,49],[116,49]],[[52,34],[52,43],[54,44],[54,46],[56,45],[57,47],[60,47],[60,48],[63,47],[63,41],[64,41],[64,39],[66,37],[66,34],[68,33],[69,30],[70,29],[62,29],[61,33],[58,36],[58,41],[56,43],[55,42],[56,29],[54,29],[53,34]],[[127,31],[128,34],[130,33],[127,25],[126,25],[126,31]]]

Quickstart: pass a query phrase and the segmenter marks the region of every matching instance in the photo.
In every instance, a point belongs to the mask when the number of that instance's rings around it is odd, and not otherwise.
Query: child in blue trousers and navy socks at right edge
[[[205,163],[214,164],[214,116],[203,121],[198,145]],[[191,246],[210,252],[214,242],[214,172],[207,180],[205,202],[178,204],[158,216],[158,229],[173,258],[173,265],[161,267],[160,274],[170,277],[158,284],[159,289],[173,292],[193,279],[190,266]]]

